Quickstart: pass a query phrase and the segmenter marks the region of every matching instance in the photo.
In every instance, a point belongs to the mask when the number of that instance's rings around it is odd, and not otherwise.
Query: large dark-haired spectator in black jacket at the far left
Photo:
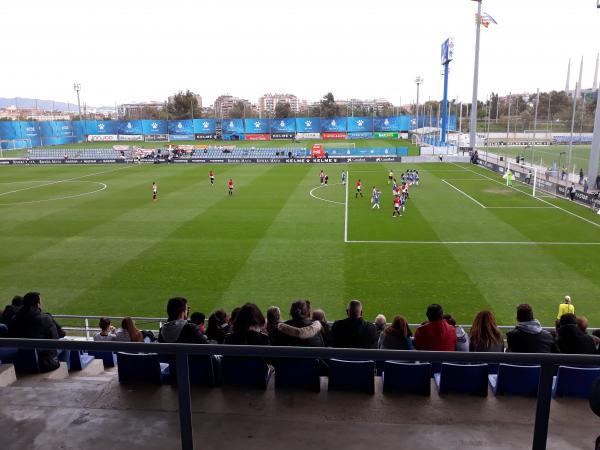
[[[23,297],[23,307],[10,323],[10,337],[28,339],[60,339],[65,336],[50,314],[42,312],[42,297],[39,292],[28,292]],[[58,353],[56,350],[38,350],[40,372],[58,369]]]

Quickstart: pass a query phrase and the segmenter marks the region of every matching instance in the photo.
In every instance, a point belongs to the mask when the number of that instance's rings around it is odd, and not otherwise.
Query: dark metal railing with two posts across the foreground
[[[550,418],[550,403],[552,398],[552,379],[554,376],[555,366],[600,365],[600,355],[429,352],[416,350],[366,350],[327,347],[270,347],[212,344],[142,344],[133,342],[84,342],[13,338],[0,339],[0,348],[2,347],[21,349],[142,352],[175,355],[181,447],[184,450],[191,450],[194,448],[188,355],[250,356],[263,358],[338,358],[373,361],[401,360],[451,362],[463,364],[539,364],[541,366],[541,370],[535,413],[535,425],[533,430],[533,450],[542,450],[546,448],[546,441],[548,438],[548,421]]]

